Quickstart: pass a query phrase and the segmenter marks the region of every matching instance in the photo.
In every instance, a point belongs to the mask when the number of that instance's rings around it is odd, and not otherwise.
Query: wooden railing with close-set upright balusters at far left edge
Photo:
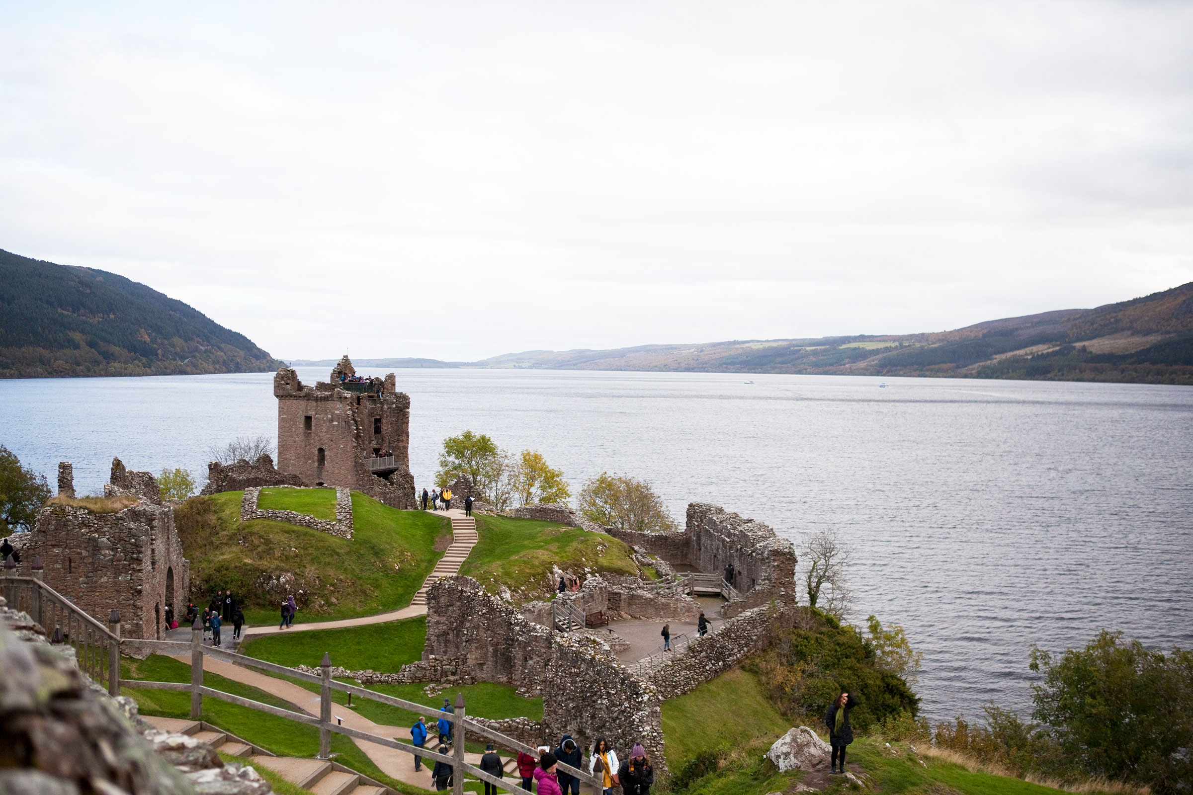
[[[119,694],[120,678],[120,616],[112,610],[109,627],[84,613],[41,579],[39,561],[33,560],[33,577],[4,577],[4,597],[8,607],[23,610],[42,625],[51,644],[74,648],[79,670],[92,681],[107,685],[110,694]]]

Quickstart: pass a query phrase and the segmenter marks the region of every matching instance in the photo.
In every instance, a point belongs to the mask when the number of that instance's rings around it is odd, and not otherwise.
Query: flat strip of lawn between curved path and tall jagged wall
[[[407,663],[422,657],[427,642],[427,619],[369,623],[344,629],[308,629],[266,635],[245,644],[241,653],[286,667],[317,666],[323,652],[333,665],[350,671],[373,670],[396,673]]]

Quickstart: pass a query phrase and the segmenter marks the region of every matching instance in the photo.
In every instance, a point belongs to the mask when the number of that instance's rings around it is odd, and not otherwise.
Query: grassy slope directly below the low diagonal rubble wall
[[[736,667],[692,692],[665,701],[662,723],[667,766],[672,770],[679,770],[701,751],[731,750],[754,739],[769,744],[791,728],[758,678]]]

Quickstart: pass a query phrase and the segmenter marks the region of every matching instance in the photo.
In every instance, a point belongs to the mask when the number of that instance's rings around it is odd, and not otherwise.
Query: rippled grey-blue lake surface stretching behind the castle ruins
[[[1032,642],[1063,650],[1105,627],[1193,646],[1189,387],[483,369],[397,383],[420,487],[443,437],[470,428],[540,451],[573,492],[626,472],[680,521],[711,502],[797,546],[836,528],[857,552],[855,619],[905,627],[932,720],[991,698],[1030,712]],[[202,477],[210,447],[276,431],[272,373],[0,381],[0,443],[51,485],[73,461],[80,492],[113,455]]]

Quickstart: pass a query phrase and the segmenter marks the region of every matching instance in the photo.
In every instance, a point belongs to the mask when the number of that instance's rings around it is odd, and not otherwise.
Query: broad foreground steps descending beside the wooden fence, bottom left
[[[142,715],[155,728],[163,732],[187,734],[206,743],[220,753],[239,757],[261,768],[268,768],[286,781],[309,789],[315,795],[385,795],[389,789],[352,772],[341,764],[324,759],[299,759],[297,757],[276,757],[268,751],[256,747],[245,740],[221,732],[197,720],[179,718],[154,718]]]

